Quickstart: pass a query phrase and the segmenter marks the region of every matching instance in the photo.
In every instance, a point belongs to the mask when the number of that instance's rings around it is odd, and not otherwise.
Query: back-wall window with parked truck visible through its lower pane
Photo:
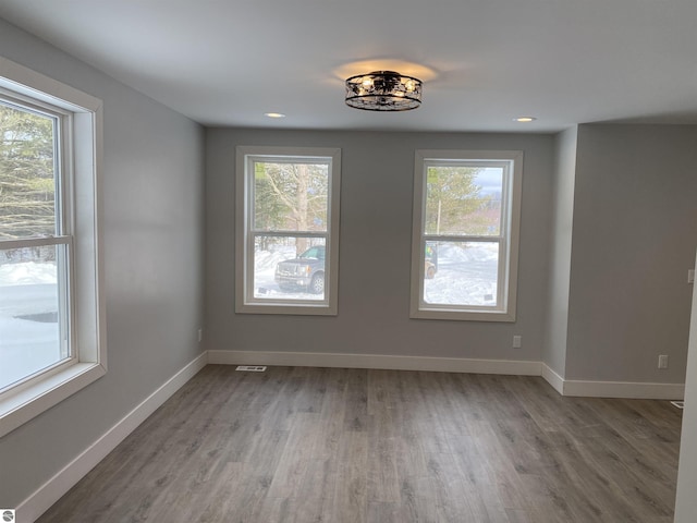
[[[335,315],[340,150],[236,154],[236,312]]]

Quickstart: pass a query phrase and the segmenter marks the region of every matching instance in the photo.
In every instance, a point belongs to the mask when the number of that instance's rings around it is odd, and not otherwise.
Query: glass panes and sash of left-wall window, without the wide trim
[[[54,108],[0,97],[0,391],[75,356],[66,121]]]

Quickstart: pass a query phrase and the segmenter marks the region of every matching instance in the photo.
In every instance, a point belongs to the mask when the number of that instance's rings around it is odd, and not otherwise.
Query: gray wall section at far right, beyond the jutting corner
[[[579,126],[567,379],[684,381],[696,144],[692,125]]]

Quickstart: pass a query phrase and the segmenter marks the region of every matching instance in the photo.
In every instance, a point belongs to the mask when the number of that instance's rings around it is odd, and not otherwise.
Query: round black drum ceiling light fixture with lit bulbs
[[[346,78],[346,105],[366,111],[408,111],[421,105],[421,81],[394,71]]]

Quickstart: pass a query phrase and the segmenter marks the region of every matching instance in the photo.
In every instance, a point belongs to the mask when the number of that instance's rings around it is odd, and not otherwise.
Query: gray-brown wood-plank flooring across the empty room
[[[210,365],[41,523],[669,523],[681,411],[539,377]]]

